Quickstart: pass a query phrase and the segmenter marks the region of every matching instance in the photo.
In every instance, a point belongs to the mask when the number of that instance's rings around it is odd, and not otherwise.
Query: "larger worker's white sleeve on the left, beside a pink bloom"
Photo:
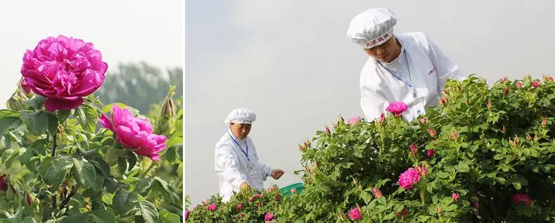
[[[385,112],[388,100],[378,94],[374,89],[364,84],[362,80],[360,84],[360,106],[366,116],[366,122],[378,119],[381,113]]]

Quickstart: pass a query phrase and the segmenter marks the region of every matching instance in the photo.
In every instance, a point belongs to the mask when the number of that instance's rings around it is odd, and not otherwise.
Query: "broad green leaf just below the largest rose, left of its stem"
[[[21,110],[20,118],[27,126],[29,132],[36,136],[44,134],[46,131],[54,134],[58,129],[58,119],[56,115],[44,110],[37,110],[34,112]]]

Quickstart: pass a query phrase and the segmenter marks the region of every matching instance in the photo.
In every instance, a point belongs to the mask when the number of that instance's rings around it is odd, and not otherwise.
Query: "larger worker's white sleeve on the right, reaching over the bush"
[[[464,76],[461,75],[459,66],[450,60],[426,35],[425,37],[426,42],[428,42],[428,55],[438,73],[438,94],[441,94],[443,87],[447,83],[447,79],[456,79],[460,81],[464,79]]]

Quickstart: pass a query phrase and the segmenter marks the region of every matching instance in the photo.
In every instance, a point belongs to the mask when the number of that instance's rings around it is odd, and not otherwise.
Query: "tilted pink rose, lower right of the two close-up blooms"
[[[110,118],[102,114],[98,121],[114,133],[114,139],[138,155],[160,160],[158,152],[166,148],[166,136],[153,134],[151,122],[135,117],[127,108],[114,104]]]

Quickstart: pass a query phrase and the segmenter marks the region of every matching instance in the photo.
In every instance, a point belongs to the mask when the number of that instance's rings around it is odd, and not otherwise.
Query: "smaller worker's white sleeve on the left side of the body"
[[[239,171],[237,155],[228,144],[223,144],[217,149],[216,162],[224,169],[224,179],[232,186],[238,188],[242,182],[247,181],[247,176]]]

